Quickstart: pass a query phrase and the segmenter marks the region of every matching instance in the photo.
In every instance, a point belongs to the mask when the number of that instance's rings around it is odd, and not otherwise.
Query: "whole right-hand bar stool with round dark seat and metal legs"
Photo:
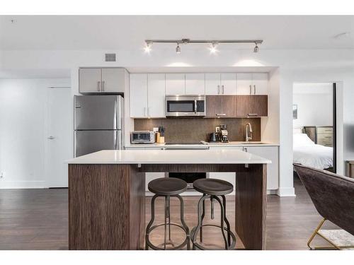
[[[234,249],[236,245],[236,237],[230,230],[230,223],[226,217],[226,194],[232,193],[234,187],[231,183],[221,179],[197,179],[193,182],[193,187],[198,192],[202,193],[202,197],[198,202],[198,225],[192,229],[190,236],[192,239],[193,249],[207,249],[197,242],[198,231],[200,232],[200,242],[202,242],[202,228],[205,226],[214,226],[220,228],[222,231],[222,237],[224,238],[224,249]],[[222,201],[219,196],[222,197]],[[202,224],[202,220],[205,217],[205,199],[210,199],[211,202],[211,218],[214,219],[214,200],[219,203],[221,222],[220,225]],[[226,228],[224,226],[226,224]],[[227,232],[227,237],[225,236]]]

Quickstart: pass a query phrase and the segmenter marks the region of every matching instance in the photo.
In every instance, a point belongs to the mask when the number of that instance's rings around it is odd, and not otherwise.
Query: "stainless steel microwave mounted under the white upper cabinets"
[[[166,117],[205,116],[205,95],[166,95]]]

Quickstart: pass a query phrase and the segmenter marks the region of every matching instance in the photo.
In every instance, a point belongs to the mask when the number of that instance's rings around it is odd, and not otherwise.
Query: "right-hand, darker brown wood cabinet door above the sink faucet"
[[[237,117],[268,116],[268,95],[237,95]]]

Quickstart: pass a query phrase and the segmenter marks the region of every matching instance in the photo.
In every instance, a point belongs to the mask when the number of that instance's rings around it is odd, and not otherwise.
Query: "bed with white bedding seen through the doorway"
[[[294,131],[293,161],[317,169],[333,167],[333,148],[315,144],[307,134]]]

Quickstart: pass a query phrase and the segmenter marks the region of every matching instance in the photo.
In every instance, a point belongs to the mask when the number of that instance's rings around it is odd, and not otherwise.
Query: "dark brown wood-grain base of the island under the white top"
[[[69,249],[143,249],[144,172],[236,172],[236,233],[265,249],[266,164],[69,164]]]

